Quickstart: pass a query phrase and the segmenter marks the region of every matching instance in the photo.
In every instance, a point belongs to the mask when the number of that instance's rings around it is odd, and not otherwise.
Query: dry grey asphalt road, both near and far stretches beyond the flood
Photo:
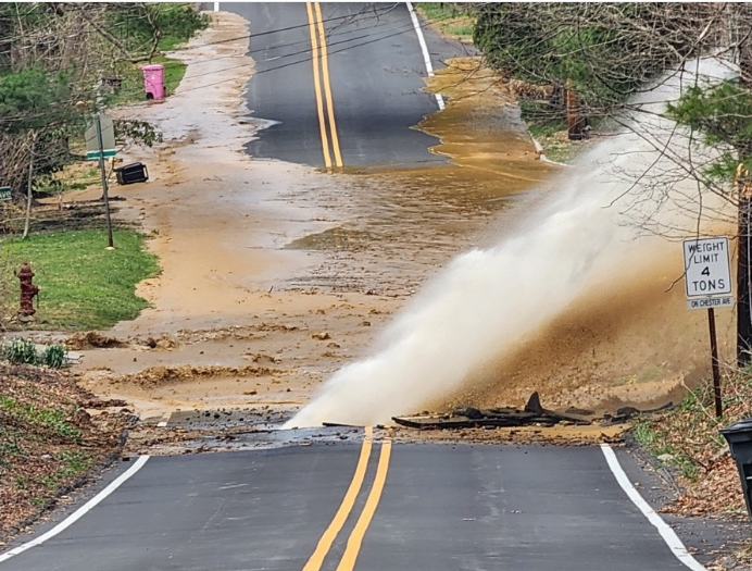
[[[437,160],[426,150],[435,140],[410,129],[436,100],[421,92],[423,61],[408,12],[403,4],[369,5],[323,4],[321,17],[305,4],[230,5],[254,33],[254,116],[278,122],[249,152],[324,165],[326,138],[337,167],[336,133],[342,166]],[[317,67],[317,89],[312,42],[328,47],[319,62],[328,60],[328,74]],[[687,569],[598,447],[410,445],[362,433],[339,440],[328,432],[313,444],[272,438],[267,449],[150,458],[60,533],[12,557],[7,551],[0,567]],[[617,456],[631,462],[624,451]],[[653,486],[660,483],[647,480],[643,488]],[[76,497],[67,513],[86,499]],[[45,537],[65,517],[57,513],[8,549]]]

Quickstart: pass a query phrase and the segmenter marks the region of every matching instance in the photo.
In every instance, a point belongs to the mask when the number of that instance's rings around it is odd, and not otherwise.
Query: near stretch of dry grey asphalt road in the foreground
[[[365,454],[362,435],[355,440],[150,458],[73,525],[0,567],[687,569],[619,487],[598,447],[392,445],[376,438]],[[619,457],[629,461],[623,451]],[[314,561],[359,464],[362,485]],[[380,489],[379,474],[386,476]],[[364,516],[368,510],[372,519]],[[353,548],[359,529],[362,543]]]

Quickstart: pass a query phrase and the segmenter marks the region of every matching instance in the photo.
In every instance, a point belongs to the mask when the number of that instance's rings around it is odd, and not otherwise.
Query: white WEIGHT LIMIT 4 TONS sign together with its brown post
[[[684,241],[685,286],[688,309],[707,309],[713,368],[713,395],[715,415],[723,417],[720,400],[720,371],[718,370],[718,343],[715,333],[715,308],[732,307],[731,264],[728,256],[728,238],[697,238]]]

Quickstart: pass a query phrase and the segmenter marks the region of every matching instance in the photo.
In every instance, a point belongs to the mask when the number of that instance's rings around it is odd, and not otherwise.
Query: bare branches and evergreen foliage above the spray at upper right
[[[506,78],[543,88],[528,104],[539,121],[564,123],[567,94],[577,113],[603,125],[670,70],[710,55],[736,63],[738,77],[689,90],[668,113],[702,134],[722,160],[697,173],[728,184],[752,166],[752,5],[748,3],[480,3],[475,42]],[[569,125],[571,138],[585,123]]]

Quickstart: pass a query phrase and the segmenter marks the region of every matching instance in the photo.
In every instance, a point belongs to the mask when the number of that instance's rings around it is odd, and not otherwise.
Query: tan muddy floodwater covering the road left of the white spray
[[[163,134],[154,149],[134,148],[124,158],[147,163],[151,181],[117,188],[126,198],[118,215],[138,222],[160,257],[161,275],[139,286],[151,308],[72,339],[83,385],[128,400],[143,418],[300,407],[472,244],[505,207],[497,198],[549,170],[535,161],[513,111],[499,119],[499,133],[516,141],[504,164],[516,161],[526,173],[506,177],[509,184],[475,169],[486,181],[478,185],[458,165],[333,175],[254,160],[242,145],[262,124],[241,98],[254,65],[247,40],[235,39],[247,37],[247,22],[212,17],[214,25],[174,54],[188,69],[173,96],[115,111]],[[511,101],[503,90],[482,91],[487,107]],[[458,121],[440,135],[451,137]]]

